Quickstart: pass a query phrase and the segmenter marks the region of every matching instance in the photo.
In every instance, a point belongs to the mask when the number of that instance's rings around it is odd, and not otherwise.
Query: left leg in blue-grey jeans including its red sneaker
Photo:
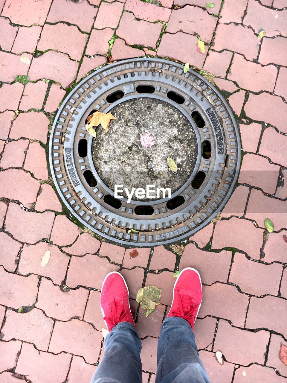
[[[117,272],[109,273],[103,282],[101,311],[109,333],[91,383],[142,383],[142,343],[130,312],[126,282]]]

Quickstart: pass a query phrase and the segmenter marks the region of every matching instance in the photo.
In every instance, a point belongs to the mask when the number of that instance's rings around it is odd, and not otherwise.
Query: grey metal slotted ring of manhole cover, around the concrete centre
[[[115,200],[93,163],[86,118],[134,98],[169,103],[195,133],[194,169],[171,200]],[[85,226],[121,244],[151,246],[190,236],[222,210],[237,179],[240,151],[232,112],[207,80],[192,70],[184,74],[174,62],[130,59],[97,70],[67,96],[52,127],[49,158],[62,200]]]

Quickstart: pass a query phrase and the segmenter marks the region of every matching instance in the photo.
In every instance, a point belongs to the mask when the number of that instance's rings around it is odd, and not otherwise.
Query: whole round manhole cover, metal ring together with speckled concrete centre
[[[107,133],[95,128],[93,138],[85,125],[95,111],[116,119]],[[99,235],[133,246],[178,241],[209,223],[232,193],[240,154],[238,128],[220,93],[162,59],[125,60],[86,77],[60,106],[49,145],[68,209]],[[129,199],[123,191],[115,198],[115,185],[171,193]]]

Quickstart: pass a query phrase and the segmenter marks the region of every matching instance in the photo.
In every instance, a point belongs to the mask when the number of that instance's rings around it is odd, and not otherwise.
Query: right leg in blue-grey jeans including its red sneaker
[[[161,326],[156,383],[210,383],[192,331],[201,300],[199,273],[184,269],[174,284],[171,309]]]

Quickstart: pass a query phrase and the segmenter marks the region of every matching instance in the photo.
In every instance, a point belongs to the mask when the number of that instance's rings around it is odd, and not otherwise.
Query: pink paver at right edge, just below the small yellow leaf
[[[287,57],[284,52],[287,49],[287,40],[277,36],[275,39],[263,38],[259,62],[267,65],[269,63],[287,66]]]

